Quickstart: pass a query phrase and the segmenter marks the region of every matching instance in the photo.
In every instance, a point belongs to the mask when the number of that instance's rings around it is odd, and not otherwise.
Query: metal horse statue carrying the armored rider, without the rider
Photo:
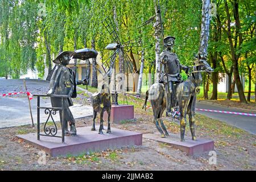
[[[201,84],[202,75],[201,72],[210,73],[213,69],[209,66],[205,59],[197,59],[194,61],[193,71],[190,73],[189,78],[177,85],[176,88],[176,99],[180,109],[180,137],[181,141],[184,141],[185,125],[187,123],[186,114],[189,115],[189,126],[191,129],[192,139],[195,140],[195,104],[196,104],[196,93],[199,92],[199,85]],[[166,126],[164,126],[162,115],[166,109],[167,94],[164,84],[155,83],[150,86],[146,92],[146,100],[142,109],[146,110],[147,100],[150,100],[152,110],[154,114],[154,123],[156,129],[164,138],[168,136]]]

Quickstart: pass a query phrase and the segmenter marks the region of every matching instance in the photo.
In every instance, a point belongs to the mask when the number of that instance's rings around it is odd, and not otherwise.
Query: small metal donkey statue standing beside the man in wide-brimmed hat
[[[110,130],[111,96],[110,96],[109,87],[108,87],[111,73],[112,73],[112,69],[110,69],[110,71],[104,75],[103,84],[101,86],[100,92],[94,93],[90,98],[93,106],[92,131],[96,130],[95,119],[97,116],[97,112],[99,112],[100,113],[100,129],[98,131],[99,134],[103,134],[102,130],[104,130],[104,127],[103,127],[104,111],[107,111],[108,113],[108,131],[106,133],[111,133],[111,130]]]

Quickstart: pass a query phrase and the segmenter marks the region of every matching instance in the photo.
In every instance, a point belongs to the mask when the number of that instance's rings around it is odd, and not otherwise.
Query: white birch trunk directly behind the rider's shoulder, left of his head
[[[160,80],[160,40],[161,40],[161,22],[160,22],[160,14],[158,11],[158,1],[154,0],[154,5],[155,5],[155,23],[154,23],[154,28],[155,28],[155,68],[156,68],[156,78],[155,82],[159,82]]]

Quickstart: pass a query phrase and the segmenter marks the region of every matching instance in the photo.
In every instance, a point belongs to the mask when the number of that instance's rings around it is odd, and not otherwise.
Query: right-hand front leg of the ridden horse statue
[[[193,96],[189,102],[188,105],[188,118],[189,118],[189,127],[192,135],[192,140],[196,140],[196,135],[195,135],[195,103],[196,103],[196,97]]]

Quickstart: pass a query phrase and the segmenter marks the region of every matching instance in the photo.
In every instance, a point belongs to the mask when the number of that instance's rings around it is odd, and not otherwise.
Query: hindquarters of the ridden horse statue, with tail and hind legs
[[[167,94],[164,84],[155,83],[150,86],[146,92],[146,100],[142,109],[146,110],[148,96],[150,96],[149,98],[154,113],[153,122],[155,123],[156,129],[160,132],[161,137],[165,138],[166,136],[169,136],[169,134],[162,120],[162,115],[167,104]]]

